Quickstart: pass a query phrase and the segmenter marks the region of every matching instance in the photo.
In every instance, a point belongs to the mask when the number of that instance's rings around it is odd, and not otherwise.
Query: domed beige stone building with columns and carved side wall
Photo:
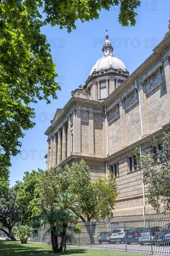
[[[153,53],[130,75],[113,56],[107,31],[105,38],[103,56],[85,85],[72,91],[45,132],[47,168],[84,159],[92,181],[112,171],[120,191],[114,215],[151,213],[133,150],[148,148],[151,136],[161,143],[163,132],[170,130],[170,25]]]

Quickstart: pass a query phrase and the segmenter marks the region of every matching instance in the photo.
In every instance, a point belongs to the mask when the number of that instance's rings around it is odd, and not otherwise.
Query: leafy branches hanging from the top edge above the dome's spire
[[[75,29],[75,21],[81,22],[98,19],[99,11],[109,10],[119,6],[118,21],[122,26],[134,26],[136,23],[135,9],[140,6],[139,0],[45,0],[44,12],[47,14],[46,23],[52,26],[66,27],[68,32]]]

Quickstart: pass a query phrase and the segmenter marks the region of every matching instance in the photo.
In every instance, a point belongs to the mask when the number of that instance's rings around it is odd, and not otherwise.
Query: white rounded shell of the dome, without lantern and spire
[[[92,72],[95,71],[99,71],[100,69],[106,69],[106,68],[110,68],[113,67],[114,69],[119,69],[121,68],[122,70],[126,70],[126,67],[124,66],[124,63],[119,60],[117,57],[114,57],[113,55],[104,55],[102,58],[100,58],[96,64],[92,67],[90,75],[92,74]]]

